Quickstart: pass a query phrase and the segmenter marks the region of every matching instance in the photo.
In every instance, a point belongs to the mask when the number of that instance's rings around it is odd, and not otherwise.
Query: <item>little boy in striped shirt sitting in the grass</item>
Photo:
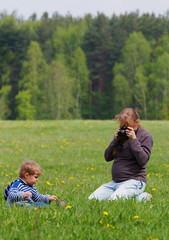
[[[19,168],[19,178],[11,182],[4,191],[7,206],[13,204],[24,206],[49,206],[52,200],[58,201],[56,196],[40,194],[35,183],[38,181],[42,169],[34,161],[26,161]]]

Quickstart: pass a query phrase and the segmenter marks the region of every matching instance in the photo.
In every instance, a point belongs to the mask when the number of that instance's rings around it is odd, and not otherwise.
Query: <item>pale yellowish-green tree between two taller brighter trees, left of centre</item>
[[[50,119],[70,119],[73,118],[74,98],[73,84],[62,56],[59,60],[53,61],[48,70],[48,80],[46,82],[48,99],[48,117]]]

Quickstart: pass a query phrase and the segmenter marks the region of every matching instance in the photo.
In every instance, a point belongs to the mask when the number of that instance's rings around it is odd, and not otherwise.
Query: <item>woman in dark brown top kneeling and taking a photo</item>
[[[114,159],[112,181],[96,189],[89,199],[117,200],[137,196],[138,201],[150,200],[151,195],[143,193],[146,186],[146,166],[151,155],[153,139],[140,126],[138,113],[125,108],[116,115],[120,128],[105,150],[107,162]]]

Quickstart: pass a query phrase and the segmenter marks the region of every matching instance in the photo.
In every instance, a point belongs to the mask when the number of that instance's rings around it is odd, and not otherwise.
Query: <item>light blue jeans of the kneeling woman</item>
[[[117,200],[118,198],[129,198],[136,196],[137,200],[141,202],[142,200],[147,200],[148,194],[145,192],[145,183],[139,180],[130,179],[117,183],[115,181],[110,181],[103,184],[98,189],[96,189],[90,196],[90,199],[101,200]]]

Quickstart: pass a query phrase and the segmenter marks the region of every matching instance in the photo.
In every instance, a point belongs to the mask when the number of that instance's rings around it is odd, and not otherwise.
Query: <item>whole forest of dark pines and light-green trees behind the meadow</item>
[[[0,119],[169,119],[169,12],[0,13]]]

